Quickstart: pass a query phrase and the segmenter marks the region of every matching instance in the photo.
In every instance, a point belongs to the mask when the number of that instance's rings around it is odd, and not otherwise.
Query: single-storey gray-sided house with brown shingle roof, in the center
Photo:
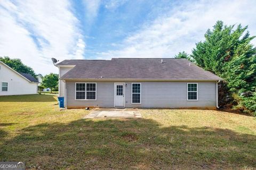
[[[218,107],[221,78],[186,59],[65,60],[56,66],[67,108]]]

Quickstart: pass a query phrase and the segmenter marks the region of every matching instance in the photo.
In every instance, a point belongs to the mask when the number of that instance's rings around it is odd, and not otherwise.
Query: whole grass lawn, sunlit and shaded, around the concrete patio
[[[255,117],[141,109],[143,119],[84,120],[56,96],[0,97],[0,160],[27,169],[255,169]]]

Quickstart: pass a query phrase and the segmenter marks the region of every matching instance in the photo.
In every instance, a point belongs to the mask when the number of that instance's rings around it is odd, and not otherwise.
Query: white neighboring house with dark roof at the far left
[[[18,73],[0,62],[0,96],[37,94],[39,83],[31,74]]]

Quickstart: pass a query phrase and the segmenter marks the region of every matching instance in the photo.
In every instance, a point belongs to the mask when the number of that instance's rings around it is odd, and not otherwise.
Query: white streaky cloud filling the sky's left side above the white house
[[[1,1],[0,56],[20,58],[43,74],[58,71],[51,57],[83,58],[85,43],[70,8],[61,0]]]

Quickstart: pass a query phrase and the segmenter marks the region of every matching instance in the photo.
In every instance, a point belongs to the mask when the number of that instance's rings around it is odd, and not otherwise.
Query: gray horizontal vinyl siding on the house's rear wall
[[[90,81],[79,81],[90,82]],[[95,81],[94,81],[95,82]],[[117,82],[117,81],[115,81]],[[75,81],[66,81],[67,106],[114,107],[114,81],[98,81],[97,100],[75,100]],[[216,82],[198,83],[198,100],[187,100],[188,82],[150,82],[141,83],[141,104],[131,103],[132,82],[125,82],[125,107],[138,108],[175,108],[216,106]],[[190,82],[189,82],[190,83]],[[192,83],[192,82],[191,82]]]

